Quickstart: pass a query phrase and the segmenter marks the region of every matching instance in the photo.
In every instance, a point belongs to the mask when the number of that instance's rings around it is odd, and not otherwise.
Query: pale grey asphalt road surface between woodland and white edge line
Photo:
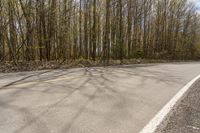
[[[137,133],[200,63],[0,74],[1,133]]]

